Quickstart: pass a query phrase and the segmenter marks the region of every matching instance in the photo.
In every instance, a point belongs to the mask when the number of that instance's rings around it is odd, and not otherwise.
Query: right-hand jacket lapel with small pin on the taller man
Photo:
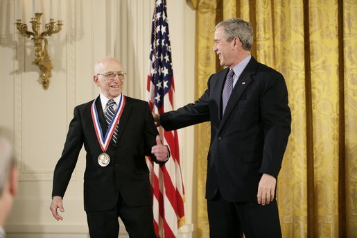
[[[236,103],[238,103],[245,89],[248,87],[248,85],[250,85],[250,83],[252,83],[252,75],[255,74],[256,64],[256,60],[252,57],[250,62],[248,62],[247,66],[243,70],[241,76],[239,76],[236,85],[234,85],[232,94],[227,103],[227,107],[225,108],[225,114],[223,114],[222,121],[220,121],[218,133],[220,132],[220,130],[222,130],[227,119],[229,118],[229,115],[232,114]],[[222,101],[222,99],[220,99],[220,101]],[[222,108],[222,105],[220,105],[220,108]],[[222,110],[220,110],[220,112],[222,112]]]

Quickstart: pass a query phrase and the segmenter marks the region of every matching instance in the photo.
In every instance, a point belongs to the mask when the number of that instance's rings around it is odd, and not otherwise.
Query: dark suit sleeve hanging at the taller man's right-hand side
[[[261,94],[261,117],[264,126],[263,160],[260,173],[277,178],[290,135],[291,114],[284,77],[277,73],[265,83]]]

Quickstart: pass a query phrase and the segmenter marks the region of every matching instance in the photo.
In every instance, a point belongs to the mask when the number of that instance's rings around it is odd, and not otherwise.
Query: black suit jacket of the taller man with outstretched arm
[[[290,135],[284,77],[253,57],[238,78],[222,116],[222,92],[229,68],[213,74],[208,89],[176,111],[160,114],[165,130],[211,121],[206,198],[218,187],[227,201],[256,201],[263,173],[277,178]]]

